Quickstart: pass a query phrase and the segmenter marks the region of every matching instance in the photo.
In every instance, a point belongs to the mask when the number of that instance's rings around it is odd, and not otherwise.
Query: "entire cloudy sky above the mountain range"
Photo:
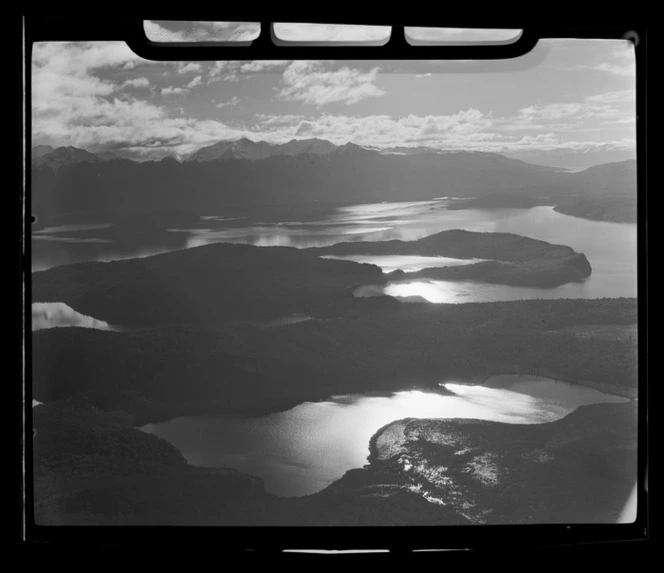
[[[146,24],[166,41],[206,39],[211,29],[220,39],[257,33],[246,24]],[[282,29],[293,40],[306,32]],[[321,37],[350,36],[328,28]],[[32,121],[32,145],[137,159],[238,137],[501,153],[634,148],[634,50],[624,40],[542,40],[517,60],[491,62],[151,62],[120,42],[40,43]]]

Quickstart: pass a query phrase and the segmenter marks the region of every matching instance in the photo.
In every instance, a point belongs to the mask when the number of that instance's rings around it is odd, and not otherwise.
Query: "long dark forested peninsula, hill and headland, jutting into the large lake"
[[[452,230],[418,241],[312,249],[216,243],[144,258],[62,265],[33,274],[32,296],[34,302],[63,302],[97,320],[126,326],[214,324],[292,313],[329,318],[357,306],[356,288],[403,278],[375,265],[322,257],[349,253],[500,261],[407,275],[451,280],[551,287],[591,273],[585,256],[570,247],[509,233]]]

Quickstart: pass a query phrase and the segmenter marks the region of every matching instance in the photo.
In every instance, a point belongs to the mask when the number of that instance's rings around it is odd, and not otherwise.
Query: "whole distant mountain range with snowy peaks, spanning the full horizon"
[[[266,216],[277,208],[437,197],[495,197],[491,207],[499,208],[501,197],[513,203],[516,196],[572,215],[578,204],[581,216],[635,220],[634,160],[568,173],[496,153],[392,151],[321,139],[269,144],[243,138],[203,147],[182,161],[137,162],[110,152],[37,146],[30,208],[46,224],[108,221],[157,205],[199,215]]]

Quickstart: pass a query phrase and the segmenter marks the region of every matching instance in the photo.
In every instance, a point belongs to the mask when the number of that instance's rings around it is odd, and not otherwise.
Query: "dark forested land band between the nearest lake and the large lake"
[[[636,395],[634,299],[431,305],[381,298],[355,299],[343,317],[271,328],[40,330],[32,333],[33,397],[85,393],[102,409],[146,423],[495,374]]]

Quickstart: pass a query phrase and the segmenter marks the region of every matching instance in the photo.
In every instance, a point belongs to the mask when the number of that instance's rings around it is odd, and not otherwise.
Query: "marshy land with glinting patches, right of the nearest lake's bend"
[[[326,493],[418,491],[473,523],[616,523],[636,483],[636,403],[548,424],[399,420]]]

